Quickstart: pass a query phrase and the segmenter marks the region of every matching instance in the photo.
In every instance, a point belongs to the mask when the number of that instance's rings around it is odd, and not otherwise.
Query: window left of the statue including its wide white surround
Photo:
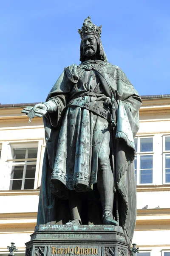
[[[0,191],[37,189],[41,183],[44,139],[4,141],[0,159]],[[0,147],[1,148],[1,147]]]

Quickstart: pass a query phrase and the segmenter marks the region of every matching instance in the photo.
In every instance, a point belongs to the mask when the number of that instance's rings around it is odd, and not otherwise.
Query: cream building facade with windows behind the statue
[[[142,96],[136,135],[139,256],[170,256],[170,95]],[[0,105],[0,256],[16,256],[34,232],[45,138],[42,118],[21,113],[34,104]]]

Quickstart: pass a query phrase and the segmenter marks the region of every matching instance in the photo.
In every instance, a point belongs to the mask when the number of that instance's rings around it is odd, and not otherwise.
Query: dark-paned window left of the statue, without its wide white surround
[[[17,145],[18,147],[21,145]],[[10,190],[34,189],[38,147],[15,148],[12,146]]]

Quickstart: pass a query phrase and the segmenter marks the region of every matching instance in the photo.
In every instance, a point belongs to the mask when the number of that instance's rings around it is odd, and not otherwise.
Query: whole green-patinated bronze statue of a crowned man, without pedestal
[[[66,67],[46,102],[25,110],[30,118],[43,115],[45,127],[37,224],[120,225],[131,242],[133,138],[142,101],[125,73],[108,62],[101,28],[85,19],[79,29],[81,64]]]

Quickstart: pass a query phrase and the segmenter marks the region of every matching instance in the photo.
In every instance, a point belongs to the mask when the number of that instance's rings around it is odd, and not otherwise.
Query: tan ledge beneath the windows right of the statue
[[[163,185],[137,185],[137,192],[170,191],[170,184]]]

